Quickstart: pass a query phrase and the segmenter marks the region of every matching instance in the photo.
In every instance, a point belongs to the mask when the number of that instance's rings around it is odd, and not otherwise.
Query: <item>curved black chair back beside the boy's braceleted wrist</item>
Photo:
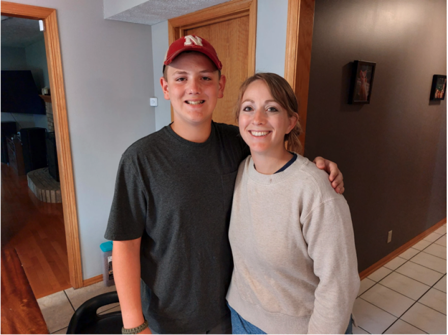
[[[120,312],[98,315],[101,306],[119,302],[117,291],[97,295],[79,306],[68,325],[67,334],[121,334]]]

